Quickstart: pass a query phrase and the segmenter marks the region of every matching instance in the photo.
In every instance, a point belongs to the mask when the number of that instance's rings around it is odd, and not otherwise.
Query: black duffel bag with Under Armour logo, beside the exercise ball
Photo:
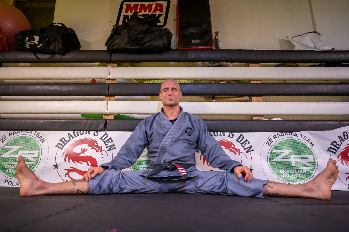
[[[64,53],[68,50],[79,50],[81,47],[75,31],[63,23],[51,23],[39,30],[20,31],[15,34],[15,46],[20,51],[46,53]]]

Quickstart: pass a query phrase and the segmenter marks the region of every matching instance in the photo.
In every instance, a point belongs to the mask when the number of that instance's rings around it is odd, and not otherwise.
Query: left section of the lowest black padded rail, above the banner
[[[0,130],[105,131],[106,119],[0,119]]]

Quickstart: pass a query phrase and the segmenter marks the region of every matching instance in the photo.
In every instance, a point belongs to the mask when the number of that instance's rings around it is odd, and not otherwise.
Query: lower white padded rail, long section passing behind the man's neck
[[[349,102],[181,102],[192,114],[347,115]],[[109,101],[108,114],[155,114],[161,102]]]

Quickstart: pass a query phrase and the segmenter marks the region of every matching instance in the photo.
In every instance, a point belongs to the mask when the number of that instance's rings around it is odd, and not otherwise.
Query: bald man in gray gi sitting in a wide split
[[[207,130],[205,123],[179,106],[182,98],[175,80],[165,80],[159,97],[161,112],[144,119],[118,155],[100,167],[91,167],[80,180],[47,183],[40,180],[18,157],[16,175],[21,196],[42,194],[100,193],[213,193],[245,197],[310,197],[330,199],[337,178],[336,161],[311,181],[292,185],[253,178],[250,169],[231,160]],[[148,149],[151,169],[121,171]],[[195,152],[201,150],[210,166],[224,171],[196,170]]]

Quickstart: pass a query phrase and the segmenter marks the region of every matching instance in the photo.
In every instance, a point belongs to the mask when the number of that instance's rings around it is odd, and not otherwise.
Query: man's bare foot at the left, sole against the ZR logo
[[[40,194],[38,190],[42,186],[42,180],[40,180],[32,170],[25,164],[22,156],[18,156],[18,163],[16,168],[16,176],[18,182],[20,182],[21,189],[20,194],[22,197],[29,197]]]

